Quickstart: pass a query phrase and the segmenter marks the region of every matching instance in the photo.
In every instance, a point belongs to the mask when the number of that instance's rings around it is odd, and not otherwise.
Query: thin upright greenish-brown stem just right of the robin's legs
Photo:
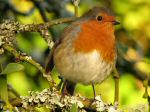
[[[115,96],[114,104],[119,101],[119,74],[117,69],[114,69],[114,80],[115,80]]]

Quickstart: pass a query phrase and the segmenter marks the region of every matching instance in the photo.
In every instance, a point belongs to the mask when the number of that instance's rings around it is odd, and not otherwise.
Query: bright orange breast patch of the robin
[[[90,20],[81,25],[81,32],[74,42],[75,52],[97,50],[103,59],[112,62],[115,59],[114,28],[111,23]]]

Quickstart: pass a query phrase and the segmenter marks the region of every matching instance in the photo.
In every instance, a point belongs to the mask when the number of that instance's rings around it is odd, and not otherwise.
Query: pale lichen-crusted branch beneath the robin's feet
[[[29,96],[22,96],[22,107],[24,109],[34,109],[35,107],[46,107],[49,109],[60,108],[69,111],[76,104],[79,110],[106,111],[117,110],[117,105],[109,105],[104,103],[100,96],[96,96],[95,100],[87,99],[80,95],[62,96],[55,88],[44,89],[42,92],[30,91]],[[28,110],[30,111],[30,110]]]

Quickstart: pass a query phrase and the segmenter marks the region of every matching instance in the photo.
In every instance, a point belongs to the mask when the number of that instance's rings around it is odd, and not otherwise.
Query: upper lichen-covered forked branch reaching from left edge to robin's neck
[[[48,32],[48,28],[52,27],[53,25],[72,22],[75,19],[75,17],[61,18],[43,24],[19,24],[18,22],[14,21],[5,21],[0,24],[0,46],[4,43],[12,44],[16,34],[19,32],[39,32],[47,42],[49,48],[52,48],[53,40]]]

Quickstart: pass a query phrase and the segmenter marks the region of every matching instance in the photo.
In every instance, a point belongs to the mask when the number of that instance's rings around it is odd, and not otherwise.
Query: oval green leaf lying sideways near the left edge
[[[24,66],[18,63],[9,63],[1,74],[10,74],[24,70]]]

